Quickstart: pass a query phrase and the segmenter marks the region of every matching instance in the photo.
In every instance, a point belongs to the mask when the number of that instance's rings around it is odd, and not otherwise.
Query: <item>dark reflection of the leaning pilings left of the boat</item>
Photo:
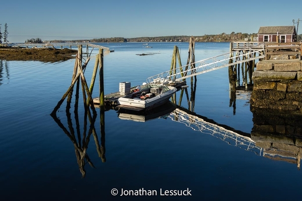
[[[95,168],[90,157],[87,154],[87,148],[88,144],[90,142],[91,135],[93,136],[95,145],[96,145],[96,151],[98,153],[98,156],[101,158],[102,162],[106,161],[105,158],[105,129],[104,126],[101,125],[101,145],[98,141],[98,136],[95,130],[94,123],[96,121],[97,113],[94,108],[90,108],[84,104],[84,125],[83,125],[83,132],[81,133],[80,128],[80,120],[79,120],[79,114],[78,114],[78,104],[76,102],[75,104],[75,110],[74,110],[74,120],[76,122],[75,128],[73,125],[72,115],[70,112],[71,108],[71,100],[67,102],[66,106],[66,116],[67,116],[67,125],[65,126],[61,119],[56,116],[56,113],[51,113],[51,117],[54,119],[54,121],[57,123],[57,125],[62,128],[62,130],[65,132],[65,134],[70,138],[71,142],[74,145],[75,148],[75,154],[77,158],[77,163],[79,165],[79,170],[82,174],[82,178],[86,175],[85,165],[86,162],[92,167]],[[89,123],[87,121],[89,120]],[[104,111],[101,112],[101,119],[104,119]],[[88,131],[87,131],[88,129]]]

